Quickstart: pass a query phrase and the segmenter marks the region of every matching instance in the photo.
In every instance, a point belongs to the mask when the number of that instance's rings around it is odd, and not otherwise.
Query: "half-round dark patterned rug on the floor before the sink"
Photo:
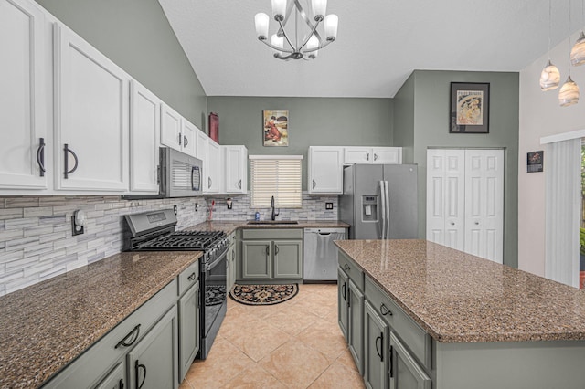
[[[234,285],[229,297],[246,305],[274,305],[293,299],[299,292],[297,284],[290,285]]]

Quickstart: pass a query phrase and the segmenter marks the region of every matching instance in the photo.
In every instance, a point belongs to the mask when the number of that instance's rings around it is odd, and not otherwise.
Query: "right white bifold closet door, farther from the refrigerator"
[[[504,151],[465,151],[465,248],[503,262]]]

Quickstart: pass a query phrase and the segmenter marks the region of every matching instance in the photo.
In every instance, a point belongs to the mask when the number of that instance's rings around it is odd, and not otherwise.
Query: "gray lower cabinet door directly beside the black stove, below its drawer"
[[[179,383],[199,351],[199,282],[179,299]]]

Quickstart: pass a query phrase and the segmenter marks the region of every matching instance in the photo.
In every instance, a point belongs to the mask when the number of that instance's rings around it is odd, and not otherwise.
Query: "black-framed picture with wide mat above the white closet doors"
[[[451,83],[449,132],[489,133],[490,84]]]

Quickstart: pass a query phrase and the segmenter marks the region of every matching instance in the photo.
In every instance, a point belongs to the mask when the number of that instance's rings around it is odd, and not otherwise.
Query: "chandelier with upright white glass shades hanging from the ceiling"
[[[254,16],[258,39],[271,47],[274,58],[314,59],[319,50],[326,47],[337,37],[338,17],[325,16],[327,0],[311,0],[311,13],[303,8],[300,0],[272,0],[272,17],[278,23],[278,30],[268,41],[269,16],[260,12]],[[317,27],[324,24],[324,38]],[[287,23],[291,28],[286,31]],[[293,31],[293,36],[291,32]],[[286,41],[286,45],[285,45]]]

